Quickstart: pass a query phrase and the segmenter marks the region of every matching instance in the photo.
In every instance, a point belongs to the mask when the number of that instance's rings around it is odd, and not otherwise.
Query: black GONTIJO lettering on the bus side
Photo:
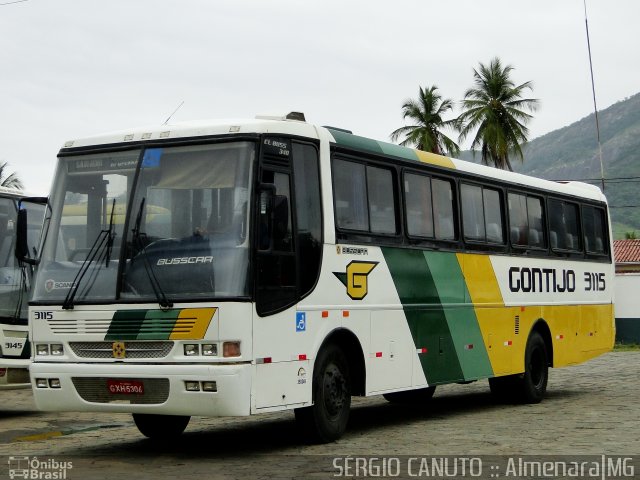
[[[576,272],[570,269],[511,267],[509,290],[514,293],[575,292]]]

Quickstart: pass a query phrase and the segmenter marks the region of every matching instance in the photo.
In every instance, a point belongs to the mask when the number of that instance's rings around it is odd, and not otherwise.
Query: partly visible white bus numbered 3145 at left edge
[[[18,209],[29,211],[27,249],[34,258],[46,199],[20,200],[24,193],[0,187],[0,389],[28,388],[31,347],[28,339],[28,305],[33,267],[15,255]]]

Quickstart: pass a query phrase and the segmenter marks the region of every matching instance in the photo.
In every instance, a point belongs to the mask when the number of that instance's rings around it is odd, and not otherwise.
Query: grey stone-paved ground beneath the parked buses
[[[364,478],[364,470],[344,469],[347,455],[524,454],[636,455],[634,478],[640,478],[639,372],[640,352],[551,370],[548,396],[539,405],[497,404],[486,381],[439,387],[423,408],[356,398],[347,434],[328,445],[304,444],[290,412],[193,418],[182,437],[162,445],[142,437],[128,415],[41,413],[30,390],[0,391],[0,478],[8,478],[10,456],[13,466],[18,457],[48,461],[40,470],[49,473],[58,465],[52,462],[72,462],[70,479],[273,480],[349,472]]]

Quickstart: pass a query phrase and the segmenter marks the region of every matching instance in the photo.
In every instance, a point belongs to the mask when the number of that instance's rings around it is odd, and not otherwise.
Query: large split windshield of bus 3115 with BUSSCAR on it
[[[33,300],[248,296],[254,157],[251,142],[61,157]]]

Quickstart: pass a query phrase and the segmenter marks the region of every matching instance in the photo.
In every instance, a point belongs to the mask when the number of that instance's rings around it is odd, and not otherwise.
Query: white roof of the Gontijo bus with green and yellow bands
[[[304,120],[300,120],[298,116],[296,116],[295,119],[288,119],[287,117],[287,115],[271,115],[258,116],[255,119],[203,120],[133,128],[71,140],[64,144],[63,149],[228,134],[237,135],[243,133],[295,135],[313,139],[328,139],[338,146],[352,150],[377,155],[389,155],[408,161],[429,163],[443,168],[478,175],[487,179],[502,180],[515,185],[535,187],[603,202],[606,201],[605,196],[597,186],[587,183],[544,180],[480,165],[474,162],[453,159],[442,155],[422,152],[413,148],[402,147],[393,143],[361,137],[347,130],[335,127],[317,127],[306,123]]]

